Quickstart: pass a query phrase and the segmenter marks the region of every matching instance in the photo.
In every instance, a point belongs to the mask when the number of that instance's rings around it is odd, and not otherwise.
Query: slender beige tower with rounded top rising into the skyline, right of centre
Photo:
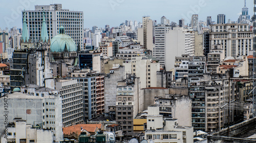
[[[144,16],[142,21],[142,28],[138,28],[138,41],[145,48],[153,51],[153,20],[149,16]]]

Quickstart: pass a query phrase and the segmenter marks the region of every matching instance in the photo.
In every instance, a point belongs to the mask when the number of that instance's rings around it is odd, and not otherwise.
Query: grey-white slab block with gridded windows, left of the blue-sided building
[[[77,79],[60,79],[56,82],[56,90],[62,98],[63,126],[83,122],[82,84],[79,84]]]

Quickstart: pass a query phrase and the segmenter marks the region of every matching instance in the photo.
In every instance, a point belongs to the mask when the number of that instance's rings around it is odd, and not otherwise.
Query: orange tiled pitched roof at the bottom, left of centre
[[[96,132],[97,129],[101,129],[101,126],[102,124],[78,124],[63,128],[63,134],[70,135],[73,132],[80,134],[82,130],[86,130],[88,132]]]

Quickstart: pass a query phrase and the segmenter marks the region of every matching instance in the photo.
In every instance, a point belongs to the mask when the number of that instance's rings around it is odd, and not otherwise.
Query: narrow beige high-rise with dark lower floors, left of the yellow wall
[[[123,132],[133,132],[133,119],[142,110],[140,78],[130,76],[116,87],[116,122]]]

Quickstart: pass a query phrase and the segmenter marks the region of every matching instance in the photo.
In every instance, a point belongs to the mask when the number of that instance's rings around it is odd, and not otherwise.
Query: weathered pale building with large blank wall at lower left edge
[[[14,122],[15,118],[21,118],[34,127],[38,124],[42,129],[50,129],[55,142],[63,138],[59,96],[39,97],[15,92],[8,95],[7,110],[4,108],[4,103],[6,103],[4,101],[6,101],[4,98],[0,98],[0,106],[3,107],[0,111],[8,111],[8,123]],[[5,121],[5,117],[1,116],[0,130],[2,131],[5,129]]]

